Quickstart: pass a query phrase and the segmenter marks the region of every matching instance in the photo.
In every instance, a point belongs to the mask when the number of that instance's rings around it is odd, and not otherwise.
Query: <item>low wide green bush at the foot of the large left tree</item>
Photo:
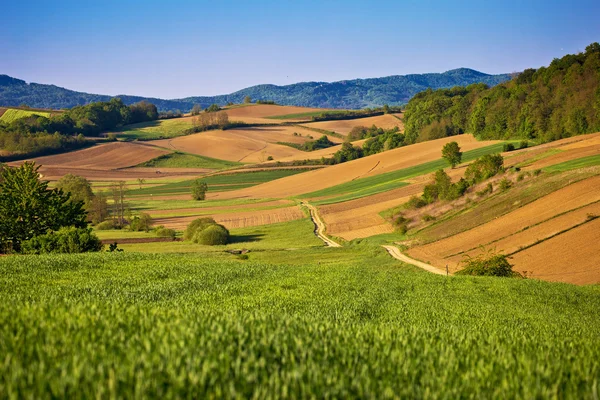
[[[67,227],[57,232],[34,236],[22,243],[25,254],[85,253],[102,250],[102,242],[88,228]]]

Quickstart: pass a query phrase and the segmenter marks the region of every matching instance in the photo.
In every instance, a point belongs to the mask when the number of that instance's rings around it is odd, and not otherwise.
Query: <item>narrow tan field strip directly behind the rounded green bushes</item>
[[[211,216],[211,215],[206,215]],[[215,221],[228,229],[244,228],[248,226],[269,225],[279,222],[294,221],[306,216],[298,206],[276,208],[273,210],[242,211],[239,213],[212,215]],[[197,217],[173,217],[155,218],[156,225],[164,225],[168,228],[184,230],[186,226]]]

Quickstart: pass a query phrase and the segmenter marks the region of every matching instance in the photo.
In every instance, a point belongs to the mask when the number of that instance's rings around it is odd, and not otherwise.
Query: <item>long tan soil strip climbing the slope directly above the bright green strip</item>
[[[497,143],[497,141],[479,142],[471,135],[453,136],[417,143],[316,171],[277,179],[248,189],[222,193],[220,198],[284,198],[310,193],[354,179],[437,160],[440,158],[440,152],[444,144],[452,141],[458,142],[463,151]]]

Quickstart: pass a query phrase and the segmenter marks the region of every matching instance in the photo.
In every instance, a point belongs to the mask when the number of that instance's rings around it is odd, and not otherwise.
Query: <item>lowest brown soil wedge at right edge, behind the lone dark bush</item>
[[[511,258],[533,279],[578,285],[600,283],[600,219],[555,236]]]

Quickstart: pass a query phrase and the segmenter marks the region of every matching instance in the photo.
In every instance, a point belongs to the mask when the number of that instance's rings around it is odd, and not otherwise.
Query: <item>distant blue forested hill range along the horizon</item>
[[[509,74],[488,75],[468,68],[441,74],[394,75],[384,78],[354,79],[339,82],[302,82],[286,86],[257,85],[235,93],[220,96],[188,97],[163,100],[139,96],[119,95],[125,104],[146,100],[159,111],[187,112],[194,104],[207,107],[216,103],[241,103],[246,96],[252,100],[275,101],[283,105],[307,107],[358,109],[384,104],[400,105],[427,88],[450,88],[457,85],[485,83],[497,85],[511,78]],[[96,101],[108,101],[111,96],[75,92],[54,85],[26,83],[23,80],[0,75],[0,106],[26,104],[36,108],[71,108]]]

